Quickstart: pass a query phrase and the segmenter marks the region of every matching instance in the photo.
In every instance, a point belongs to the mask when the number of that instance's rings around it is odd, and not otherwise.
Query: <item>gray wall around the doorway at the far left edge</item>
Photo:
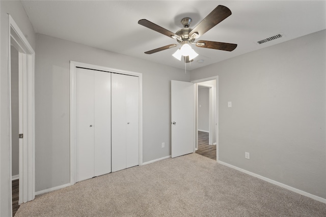
[[[1,50],[0,50],[0,216],[10,215],[10,192],[9,189],[11,181],[10,172],[10,138],[8,136],[9,126],[9,98],[8,98],[8,59],[9,59],[9,45],[8,45],[8,16],[10,14],[20,30],[35,48],[35,33],[33,26],[25,13],[20,1],[0,1],[0,32],[1,32]]]

